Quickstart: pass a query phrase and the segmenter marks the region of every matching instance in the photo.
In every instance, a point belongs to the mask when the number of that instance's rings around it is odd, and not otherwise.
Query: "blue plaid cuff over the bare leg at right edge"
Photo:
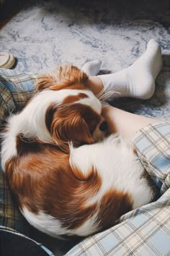
[[[164,194],[170,187],[170,123],[159,121],[133,137],[140,161]]]

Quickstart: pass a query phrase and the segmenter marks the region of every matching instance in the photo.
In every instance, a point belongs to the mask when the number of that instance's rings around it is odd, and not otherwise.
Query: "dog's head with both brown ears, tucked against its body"
[[[37,90],[50,93],[56,101],[50,101],[45,113],[45,124],[53,141],[64,151],[68,143],[74,146],[91,144],[101,140],[107,132],[102,118],[102,104],[86,87],[87,75],[77,67],[58,67],[53,74],[39,77]],[[43,104],[43,103],[42,103]]]

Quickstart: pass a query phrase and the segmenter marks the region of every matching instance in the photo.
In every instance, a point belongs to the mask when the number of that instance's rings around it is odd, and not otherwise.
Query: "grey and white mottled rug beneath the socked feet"
[[[42,73],[58,64],[81,67],[102,60],[102,73],[125,69],[155,38],[164,66],[148,101],[121,98],[113,106],[133,113],[170,119],[169,0],[25,1],[22,10],[0,30],[0,49],[17,58],[20,72]],[[58,243],[62,252],[73,244]],[[62,255],[61,252],[61,255]]]

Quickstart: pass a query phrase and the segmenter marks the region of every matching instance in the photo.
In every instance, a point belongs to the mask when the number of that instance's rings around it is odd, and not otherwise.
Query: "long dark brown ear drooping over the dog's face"
[[[66,153],[69,152],[69,142],[73,142],[75,147],[94,143],[89,125],[81,116],[79,106],[49,108],[46,125],[53,141]]]

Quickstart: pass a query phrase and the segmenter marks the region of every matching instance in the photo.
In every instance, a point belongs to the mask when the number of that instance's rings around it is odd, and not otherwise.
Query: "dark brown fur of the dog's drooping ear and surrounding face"
[[[85,98],[82,94],[76,98]],[[74,103],[76,98],[68,96],[65,104],[57,107],[51,104],[45,115],[45,123],[53,141],[66,153],[69,152],[69,142],[73,142],[75,147],[94,143],[93,132],[101,120],[101,116],[89,106]]]

